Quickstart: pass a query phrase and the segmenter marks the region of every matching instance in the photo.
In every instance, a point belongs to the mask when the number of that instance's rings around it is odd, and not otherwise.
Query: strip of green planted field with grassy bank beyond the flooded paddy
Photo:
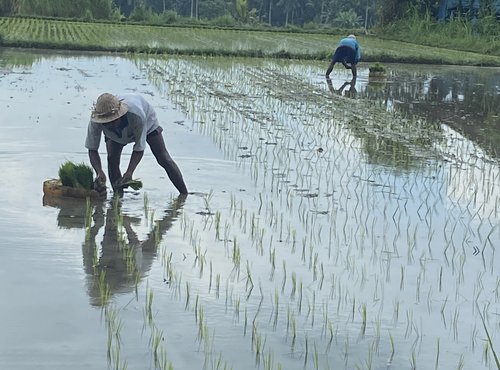
[[[40,18],[0,18],[4,46],[46,49],[316,59],[345,34],[248,31]],[[365,62],[500,66],[500,56],[359,35]]]

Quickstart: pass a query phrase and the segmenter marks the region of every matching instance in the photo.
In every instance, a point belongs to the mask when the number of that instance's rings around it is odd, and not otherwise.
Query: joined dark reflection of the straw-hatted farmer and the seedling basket
[[[85,202],[44,196],[43,205],[59,209],[59,228],[86,230],[82,255],[87,292],[91,305],[103,306],[115,294],[137,290],[156,259],[162,238],[178,219],[185,200],[185,195],[173,199],[163,217],[151,223],[143,240],[134,230],[140,226],[141,218],[123,213],[119,197]]]

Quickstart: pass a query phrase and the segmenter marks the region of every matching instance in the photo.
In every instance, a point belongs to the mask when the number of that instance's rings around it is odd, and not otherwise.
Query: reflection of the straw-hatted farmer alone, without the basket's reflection
[[[185,195],[175,199],[142,241],[132,227],[140,219],[122,214],[116,199],[105,215],[102,208],[96,208],[94,225],[88,230],[82,250],[92,305],[106,304],[112,294],[130,292],[136,288],[139,280],[151,269],[158,244],[178,218],[185,199]],[[96,237],[103,226],[99,249]]]

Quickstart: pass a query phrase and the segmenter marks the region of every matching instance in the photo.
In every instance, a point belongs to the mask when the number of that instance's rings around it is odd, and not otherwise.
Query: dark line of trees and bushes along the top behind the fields
[[[500,17],[500,0],[0,0],[0,16],[369,29],[408,14]]]

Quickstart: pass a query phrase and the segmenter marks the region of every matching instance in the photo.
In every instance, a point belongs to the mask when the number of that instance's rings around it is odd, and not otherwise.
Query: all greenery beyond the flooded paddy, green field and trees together
[[[468,13],[458,13],[446,21],[438,21],[439,1],[431,0],[73,0],[72,3],[69,6],[68,0],[0,0],[0,16],[16,19],[2,21],[0,43],[85,50],[323,59],[331,53],[338,37],[355,33],[364,35],[365,61],[497,65],[491,56],[500,56],[500,22],[491,0],[481,3],[478,16],[473,19]],[[19,20],[34,17],[43,22],[30,24]],[[62,19],[69,22],[68,25],[55,22]],[[83,22],[101,25],[89,28]],[[167,32],[136,27],[133,32],[131,28],[125,32],[122,28],[125,25],[177,28],[169,28]],[[189,30],[179,31],[181,26]],[[200,27],[204,28],[202,32]],[[221,37],[220,32],[207,31],[221,28],[235,30],[235,33],[224,33]],[[149,37],[146,30],[152,32]],[[236,30],[261,33],[254,37],[248,32],[238,34]],[[263,36],[264,31],[277,32]],[[325,46],[318,36],[315,46],[316,36],[284,37],[284,32],[330,37]],[[205,37],[205,33],[209,36]],[[384,44],[380,47],[374,44],[375,38],[384,40]],[[228,40],[232,40],[229,47],[221,46]],[[429,48],[415,52],[401,45],[394,48],[395,44],[387,40]],[[439,56],[431,47],[484,56],[471,59],[468,54],[462,56],[452,52]]]

